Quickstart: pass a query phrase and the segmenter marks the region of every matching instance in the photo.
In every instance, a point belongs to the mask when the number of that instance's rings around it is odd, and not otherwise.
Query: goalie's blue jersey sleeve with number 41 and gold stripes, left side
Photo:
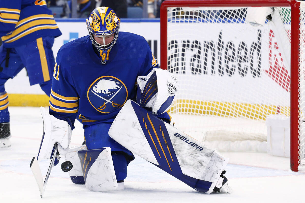
[[[59,50],[54,67],[52,89],[49,101],[49,113],[61,120],[70,120],[74,129],[74,121],[78,112],[79,96],[70,77],[70,66],[62,59]],[[68,119],[67,119],[68,118]]]

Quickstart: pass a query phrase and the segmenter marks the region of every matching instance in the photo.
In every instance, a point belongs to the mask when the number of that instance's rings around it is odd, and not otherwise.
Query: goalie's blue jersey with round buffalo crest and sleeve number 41
[[[147,75],[158,62],[146,40],[119,32],[109,60],[101,63],[89,36],[63,45],[57,54],[49,102],[50,114],[69,118],[79,113],[83,127],[112,123],[128,100],[135,100],[138,75]]]

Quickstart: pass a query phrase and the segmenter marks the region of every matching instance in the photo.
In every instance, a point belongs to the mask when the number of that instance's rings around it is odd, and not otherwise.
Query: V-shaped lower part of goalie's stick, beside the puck
[[[40,167],[38,165],[37,159],[35,159],[35,157],[33,157],[32,161],[30,163],[30,168],[31,168],[32,173],[34,175],[34,178],[37,182],[41,198],[42,198],[42,195],[45,192],[45,185],[48,182],[48,178],[50,176],[50,173],[51,173],[51,170],[52,170],[52,167],[54,165],[54,161],[55,161],[57,155],[58,155],[58,145],[57,145],[57,143],[55,143],[53,154],[52,154],[52,157],[51,157],[51,163],[49,165],[47,175],[45,176],[45,180],[43,180],[43,178],[42,178],[41,170],[40,170]]]

